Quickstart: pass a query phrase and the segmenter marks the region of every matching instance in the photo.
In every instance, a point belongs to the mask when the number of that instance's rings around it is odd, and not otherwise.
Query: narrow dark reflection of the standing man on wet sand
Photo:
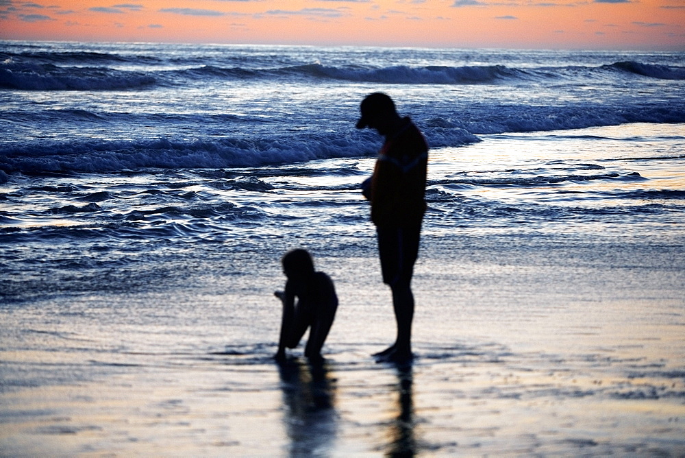
[[[413,457],[416,454],[412,384],[412,365],[398,365],[397,410],[399,415],[390,424],[390,444],[388,446],[388,456],[390,457]]]

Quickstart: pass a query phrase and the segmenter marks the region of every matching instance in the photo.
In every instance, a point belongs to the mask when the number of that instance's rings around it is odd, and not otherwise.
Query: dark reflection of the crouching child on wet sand
[[[325,362],[278,365],[291,456],[330,455],[336,437],[335,379]]]

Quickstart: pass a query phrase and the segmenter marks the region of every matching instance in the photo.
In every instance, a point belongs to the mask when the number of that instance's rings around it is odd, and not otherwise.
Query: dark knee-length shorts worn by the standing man
[[[383,282],[391,287],[409,285],[419,256],[421,224],[404,228],[377,227],[376,232]]]

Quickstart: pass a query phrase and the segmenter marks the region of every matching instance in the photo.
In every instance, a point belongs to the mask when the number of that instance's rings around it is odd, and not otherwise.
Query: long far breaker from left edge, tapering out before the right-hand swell
[[[187,59],[186,59],[187,60]],[[105,77],[131,76],[129,86],[140,86],[136,82],[136,72],[117,71],[107,66],[120,64],[142,64],[145,66],[160,66],[158,71],[153,73],[159,76],[159,81],[178,80],[179,78],[190,77],[191,79],[205,77],[219,78],[264,78],[264,77],[290,77],[297,75],[300,77],[327,78],[333,80],[346,80],[353,82],[382,82],[388,84],[473,84],[491,83],[497,80],[510,78],[530,77],[528,71],[509,68],[504,65],[490,66],[425,66],[410,67],[397,65],[393,67],[364,67],[347,66],[335,67],[326,66],[319,63],[302,64],[287,67],[252,69],[245,67],[224,67],[221,62],[214,58],[206,58],[206,62],[201,59],[175,62],[179,69],[169,70],[168,66],[163,65],[164,60],[154,56],[121,56],[111,53],[100,52],[24,52],[24,53],[0,53],[0,62],[3,62],[3,76],[0,76],[0,87],[18,89],[42,89],[42,90],[64,90],[64,89],[106,89],[109,85],[103,82],[94,85],[90,81],[89,73],[97,71]],[[190,67],[188,65],[190,64]],[[95,67],[90,67],[95,66]],[[18,78],[29,80],[19,82],[10,77],[18,75]],[[117,75],[118,74],[118,75]],[[148,78],[149,75],[146,75]],[[147,80],[145,84],[153,84],[154,79]],[[118,81],[112,88],[121,88],[122,82]]]

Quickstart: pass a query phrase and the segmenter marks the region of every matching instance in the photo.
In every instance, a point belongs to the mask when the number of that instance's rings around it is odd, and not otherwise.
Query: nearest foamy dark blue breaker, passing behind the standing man
[[[80,110],[60,112],[71,123],[98,120],[100,115]],[[8,116],[10,116],[8,114]],[[119,120],[141,123],[136,117]],[[214,123],[198,119],[194,123]],[[223,123],[223,118],[219,119]],[[684,122],[680,108],[615,110],[612,107],[575,108],[497,107],[496,112],[460,112],[458,117],[415,119],[431,147],[456,147],[482,141],[480,134],[540,132],[618,125],[631,122]],[[169,121],[172,122],[172,121]],[[182,119],[180,125],[189,121]],[[73,172],[115,172],[139,169],[222,169],[261,167],[328,158],[372,156],[379,147],[375,132],[341,130],[289,135],[284,132],[249,137],[199,136],[182,138],[79,139],[22,141],[0,145],[0,182],[8,173],[32,176],[63,176]],[[236,183],[236,186],[253,183]],[[262,186],[256,184],[256,186]]]

